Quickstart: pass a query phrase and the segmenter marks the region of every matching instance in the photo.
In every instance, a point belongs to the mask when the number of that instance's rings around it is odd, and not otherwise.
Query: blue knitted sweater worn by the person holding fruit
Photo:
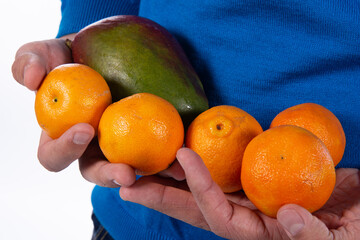
[[[211,106],[235,105],[264,129],[304,102],[330,109],[347,137],[338,167],[360,167],[360,10],[355,0],[62,1],[59,35],[120,14],[147,17],[180,42]],[[94,212],[116,239],[219,239],[95,187]]]

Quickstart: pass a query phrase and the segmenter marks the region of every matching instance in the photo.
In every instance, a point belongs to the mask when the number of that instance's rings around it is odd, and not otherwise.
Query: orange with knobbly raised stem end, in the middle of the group
[[[185,145],[204,161],[213,180],[227,193],[241,189],[245,147],[262,127],[247,112],[228,105],[212,107],[190,124]]]

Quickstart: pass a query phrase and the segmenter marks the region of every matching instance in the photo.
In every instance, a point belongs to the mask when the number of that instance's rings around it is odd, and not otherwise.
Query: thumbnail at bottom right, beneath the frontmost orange
[[[277,219],[292,236],[298,234],[305,225],[302,217],[294,210],[281,211]]]

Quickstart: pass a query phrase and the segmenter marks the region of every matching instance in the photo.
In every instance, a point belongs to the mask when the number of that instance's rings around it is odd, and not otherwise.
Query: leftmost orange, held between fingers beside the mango
[[[81,64],[64,64],[42,82],[35,114],[40,127],[55,139],[77,123],[89,123],[97,130],[111,101],[109,86],[98,72]]]

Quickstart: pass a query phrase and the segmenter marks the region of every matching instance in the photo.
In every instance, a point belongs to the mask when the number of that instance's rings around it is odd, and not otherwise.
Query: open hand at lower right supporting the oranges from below
[[[191,192],[185,182],[150,176],[121,188],[120,196],[229,239],[355,239],[360,235],[357,169],[337,170],[331,198],[314,215],[289,204],[274,219],[256,210],[242,192],[223,194],[190,149],[180,149],[177,158]]]

